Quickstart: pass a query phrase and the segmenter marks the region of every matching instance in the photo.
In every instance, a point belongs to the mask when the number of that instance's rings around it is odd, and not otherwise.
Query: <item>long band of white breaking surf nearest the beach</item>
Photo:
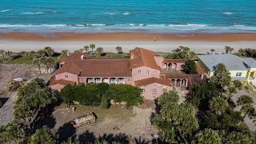
[[[214,26],[205,24],[42,24],[10,25],[0,24],[0,30],[256,30],[256,26],[230,25]]]

